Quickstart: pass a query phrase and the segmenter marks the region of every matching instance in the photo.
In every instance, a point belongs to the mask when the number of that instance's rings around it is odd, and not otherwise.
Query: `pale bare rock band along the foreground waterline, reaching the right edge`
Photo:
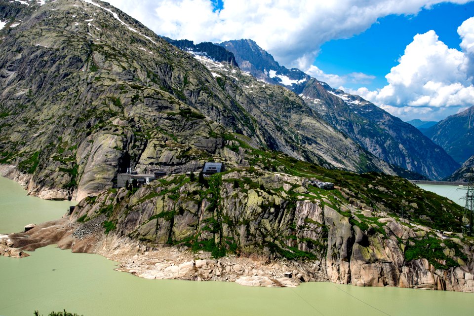
[[[327,213],[326,216],[335,215],[330,210]],[[396,265],[388,257],[373,263],[357,259],[361,254],[357,247],[353,249],[348,261],[344,257],[341,257],[341,261],[327,262],[285,259],[268,261],[257,255],[229,255],[213,259],[211,253],[205,251],[192,252],[178,246],[147,246],[116,234],[104,234],[101,226],[103,219],[97,217],[84,225],[64,216],[59,220],[41,223],[28,232],[3,235],[0,237],[0,254],[21,258],[28,256],[23,251],[34,251],[39,247],[57,244],[61,249],[96,253],[118,261],[120,264],[117,271],[146,279],[235,281],[240,285],[270,287],[294,287],[305,281],[332,281],[356,286],[474,292],[472,272],[461,267],[435,270],[426,259],[405,262],[396,269]],[[344,225],[344,220],[342,224]],[[344,244],[344,238],[338,240]],[[385,243],[390,245],[390,241]],[[384,251],[387,255],[392,251],[391,255],[394,256],[394,249],[389,248],[390,246],[385,246]],[[382,253],[376,255],[380,256]],[[402,260],[396,256],[393,258],[395,261]],[[387,280],[390,274],[393,278]]]

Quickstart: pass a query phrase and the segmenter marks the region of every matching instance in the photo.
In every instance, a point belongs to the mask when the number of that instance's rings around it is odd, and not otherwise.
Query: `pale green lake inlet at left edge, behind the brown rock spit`
[[[21,185],[0,176],[0,234],[23,231],[25,225],[58,219],[74,201],[45,201],[27,196]]]

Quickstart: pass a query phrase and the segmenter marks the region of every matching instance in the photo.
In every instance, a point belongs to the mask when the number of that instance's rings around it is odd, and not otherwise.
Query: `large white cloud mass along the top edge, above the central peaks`
[[[196,42],[251,38],[287,67],[307,69],[324,42],[365,31],[378,18],[469,0],[111,0],[158,35]]]

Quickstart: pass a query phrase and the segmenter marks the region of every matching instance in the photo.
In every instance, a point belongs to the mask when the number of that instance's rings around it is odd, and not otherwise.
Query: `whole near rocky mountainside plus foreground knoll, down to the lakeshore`
[[[182,51],[106,2],[43,3],[0,0],[0,163],[31,195],[79,204],[0,253],[129,255],[123,269],[149,279],[474,290],[462,208],[393,176],[410,175],[307,97]],[[226,171],[187,176],[206,161]],[[168,174],[114,187],[127,168]]]

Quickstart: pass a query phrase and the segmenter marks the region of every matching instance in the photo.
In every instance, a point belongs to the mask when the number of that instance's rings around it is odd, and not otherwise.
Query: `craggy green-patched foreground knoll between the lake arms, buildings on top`
[[[82,227],[58,229],[51,223],[51,228],[40,226],[8,239],[21,250],[59,240],[74,251],[108,256],[132,245],[142,250],[121,267],[148,279],[249,285],[329,280],[474,291],[473,241],[456,233],[460,206],[398,177],[312,169],[270,151],[265,158],[277,169],[290,166],[286,171],[291,174],[244,168],[202,179],[166,176],[141,188],[112,189],[83,200],[70,218]],[[318,189],[308,183],[312,177],[338,187]],[[68,227],[73,231],[68,233]],[[65,237],[48,237],[43,230],[61,230]],[[183,253],[179,258],[186,262],[171,256],[150,261],[170,247]],[[193,260],[193,253],[209,259]],[[220,259],[236,255],[243,263],[253,258],[253,267],[278,262],[295,279],[277,279],[282,273],[276,266],[265,272]]]

